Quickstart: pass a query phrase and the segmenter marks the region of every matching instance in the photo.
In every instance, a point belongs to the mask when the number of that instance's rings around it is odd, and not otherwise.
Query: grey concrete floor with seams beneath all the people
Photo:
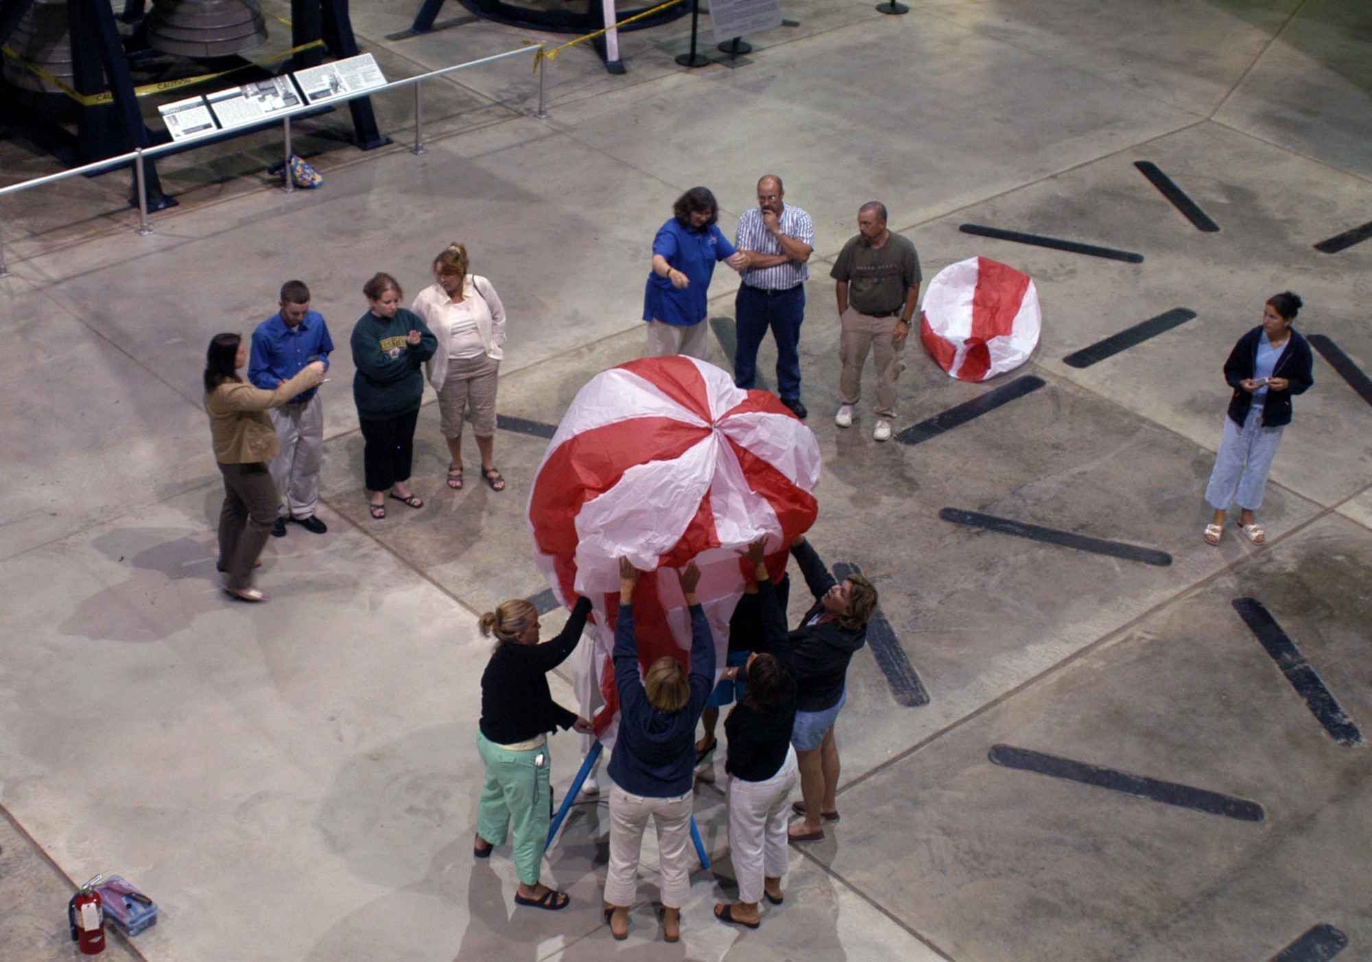
[[[1200,540],[1220,365],[1268,296],[1295,289],[1301,328],[1372,370],[1372,243],[1312,247],[1372,219],[1372,10],[911,5],[788,3],[800,26],[753,37],[734,70],[672,63],[686,21],[624,34],[626,77],[573,48],[549,69],[549,121],[531,116],[528,60],[469,71],[425,93],[420,158],[407,95],[379,99],[392,147],[347,147],[346,116],[298,130],[328,178],[316,192],[270,189],[272,136],[182,155],[161,166],[181,207],[155,215],[151,237],[129,230],[123,174],[0,201],[14,271],[0,281],[0,804],[14,822],[0,821],[14,906],[0,957],[70,958],[67,883],[118,872],[163,915],[111,952],[156,961],[1261,961],[1321,924],[1345,935],[1343,958],[1372,958],[1368,750],[1320,728],[1231,607],[1261,600],[1372,725],[1372,410],[1323,359],[1268,485],[1268,545],[1232,528],[1218,548]],[[413,14],[409,0],[353,11],[390,77],[530,36],[476,22],[386,40]],[[0,182],[56,169],[22,138],[0,158]],[[1222,230],[1196,232],[1135,160]],[[897,703],[862,652],[838,721],[844,819],[793,848],[786,903],[757,932],[711,920],[731,893],[719,772],[697,803],[715,873],[693,878],[682,943],[657,937],[645,884],[619,944],[600,917],[602,806],[580,806],[550,852],[573,899],[563,913],[514,910],[506,852],[468,854],[488,654],[475,613],[545,587],[523,519],[545,443],[502,432],[510,488],[473,478],[453,493],[425,407],[428,506],[372,522],[340,351],[325,389],[329,533],[273,540],[261,573],[273,600],[233,603],[214,578],[203,349],[217,330],[251,330],[288,277],[311,285],[342,344],[366,277],[387,270],[414,293],[461,238],[510,315],[502,414],[556,423],[590,374],[642,352],[648,245],[672,199],[711,185],[731,233],[766,171],[816,227],[801,345],[825,451],[814,540],[874,578],[930,702]],[[915,447],[874,444],[866,410],[855,429],[833,426],[827,269],[871,197],[926,277],[981,254],[1034,278],[1044,334],[1019,373],[1044,388]],[[1146,260],[977,238],[965,222]],[[734,284],[722,269],[712,314],[731,317]],[[1173,307],[1198,317],[1092,367],[1062,363]],[[911,351],[896,428],[989,386]],[[945,507],[1174,560],[959,528]],[[553,744],[563,791],[576,747]],[[1249,799],[1265,817],[1014,770],[988,758],[995,744]]]

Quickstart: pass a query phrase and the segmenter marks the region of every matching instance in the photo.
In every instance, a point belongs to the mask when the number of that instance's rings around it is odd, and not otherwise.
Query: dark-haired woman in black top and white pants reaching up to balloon
[[[748,545],[757,577],[761,637],[744,669],[748,687],[724,719],[729,736],[729,850],[738,877],[738,903],[716,903],[715,917],[750,929],[760,924],[757,903],[766,895],[782,900],[786,872],[786,802],[796,787],[796,751],[790,730],[796,722],[796,682],[789,662],[786,613],[767,574],[763,541]],[[740,669],[724,670],[737,680]]]

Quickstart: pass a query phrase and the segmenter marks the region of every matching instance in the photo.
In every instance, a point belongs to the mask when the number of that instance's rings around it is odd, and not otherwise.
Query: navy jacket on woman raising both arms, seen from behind
[[[632,606],[619,606],[615,625],[619,740],[611,754],[609,777],[630,795],[670,799],[691,788],[696,722],[715,688],[715,637],[698,604],[690,607],[690,702],[681,711],[659,711],[648,703],[648,692],[638,677]]]

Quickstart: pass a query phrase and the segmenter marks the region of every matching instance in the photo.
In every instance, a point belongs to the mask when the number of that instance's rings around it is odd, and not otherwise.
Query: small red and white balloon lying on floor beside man
[[[1028,274],[969,258],[929,282],[919,336],[948,377],[985,381],[1029,360],[1041,323],[1039,292]]]

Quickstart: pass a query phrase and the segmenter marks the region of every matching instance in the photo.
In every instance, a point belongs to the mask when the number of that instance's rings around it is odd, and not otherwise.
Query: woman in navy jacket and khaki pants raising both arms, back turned
[[[663,893],[663,939],[681,939],[681,907],[690,895],[691,793],[696,722],[715,688],[715,637],[696,596],[696,562],[678,571],[690,608],[690,674],[663,655],[638,678],[634,637],[634,585],[638,570],[619,563],[619,621],[615,624],[615,687],[619,691],[619,737],[609,759],[609,869],[605,873],[605,921],[616,939],[628,937],[628,909],[638,888],[638,854],[643,829],[657,828]]]

